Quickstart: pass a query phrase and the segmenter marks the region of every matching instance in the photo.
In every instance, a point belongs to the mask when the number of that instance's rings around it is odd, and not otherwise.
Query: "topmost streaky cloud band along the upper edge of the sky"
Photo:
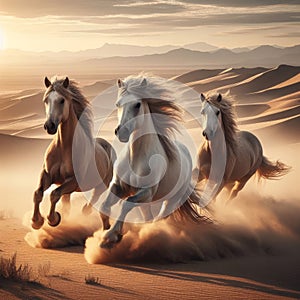
[[[148,1],[133,1],[133,0],[27,0],[20,2],[18,0],[1,1],[1,9],[3,15],[11,15],[21,18],[33,18],[42,16],[117,16],[117,15],[152,15],[152,14],[176,14],[179,12],[197,13],[203,11],[210,14],[212,11],[226,12],[240,9],[241,13],[249,9],[259,12],[262,8],[280,9],[283,11],[296,12],[299,11],[299,1],[219,1],[212,0],[207,4],[203,0],[148,0]],[[283,8],[283,10],[282,10]],[[229,9],[229,10],[228,10]]]

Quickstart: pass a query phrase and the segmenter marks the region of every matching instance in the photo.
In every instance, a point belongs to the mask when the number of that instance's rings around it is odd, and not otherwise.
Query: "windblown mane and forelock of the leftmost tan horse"
[[[51,79],[51,85],[44,94],[46,99],[53,91],[59,93],[63,98],[71,99],[74,112],[82,128],[90,139],[93,139],[93,112],[89,101],[82,94],[75,80],[70,80],[69,86],[65,88],[63,82],[65,77],[54,77]]]

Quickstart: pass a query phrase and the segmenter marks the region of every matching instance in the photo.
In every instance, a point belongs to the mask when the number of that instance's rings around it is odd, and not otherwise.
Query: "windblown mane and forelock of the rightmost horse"
[[[238,127],[236,123],[237,116],[235,112],[234,100],[229,93],[222,94],[221,101],[218,101],[218,96],[218,93],[210,94],[207,97],[207,101],[220,109],[227,149],[231,150],[233,153],[236,153]]]

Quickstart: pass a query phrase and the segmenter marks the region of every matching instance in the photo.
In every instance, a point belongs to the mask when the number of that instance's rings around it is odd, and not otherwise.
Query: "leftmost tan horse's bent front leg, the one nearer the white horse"
[[[56,188],[54,191],[52,191],[50,195],[50,211],[49,215],[47,216],[48,224],[50,226],[57,226],[60,223],[61,216],[58,212],[55,211],[56,203],[60,199],[62,195],[65,194],[71,194],[74,191],[76,191],[78,187],[77,181],[75,177],[72,177],[71,179],[65,181],[61,186]]]

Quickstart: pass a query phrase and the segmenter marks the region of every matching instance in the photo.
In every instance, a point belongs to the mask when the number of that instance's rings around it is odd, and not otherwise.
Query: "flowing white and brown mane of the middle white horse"
[[[168,159],[172,160],[176,156],[174,134],[178,122],[183,120],[182,110],[174,101],[176,92],[167,86],[165,79],[144,73],[125,78],[124,84],[121,93],[132,93],[148,104],[155,131]]]

